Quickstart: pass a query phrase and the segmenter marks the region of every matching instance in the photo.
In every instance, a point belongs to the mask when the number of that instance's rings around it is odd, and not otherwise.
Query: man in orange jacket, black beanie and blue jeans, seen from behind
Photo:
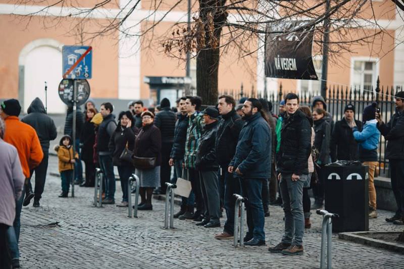
[[[8,99],[0,105],[0,117],[3,118],[6,124],[4,141],[12,144],[17,148],[18,156],[23,174],[26,179],[30,176],[30,170],[37,167],[43,158],[43,152],[39,143],[38,135],[34,128],[28,124],[20,122],[18,116],[21,113],[21,105],[16,99]],[[27,180],[26,180],[27,183]],[[24,185],[24,189],[26,186]],[[16,201],[16,217],[14,219],[14,229],[9,229],[9,247],[12,254],[12,263],[19,263],[18,239],[20,237],[20,214],[23,205],[28,205],[34,197],[34,193],[27,193],[24,199],[24,190],[21,197]],[[12,233],[14,230],[14,233]],[[11,233],[11,234],[10,234]]]

